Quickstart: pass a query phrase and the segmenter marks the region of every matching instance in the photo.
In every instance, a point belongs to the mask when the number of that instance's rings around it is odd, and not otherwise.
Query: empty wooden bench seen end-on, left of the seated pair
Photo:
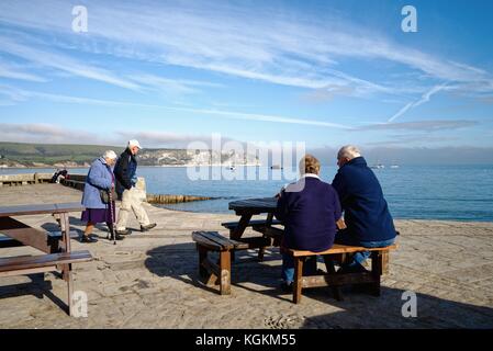
[[[217,231],[193,231],[192,239],[199,251],[199,273],[206,285],[220,285],[221,295],[231,294],[231,253],[235,250],[246,250],[249,242],[240,242],[223,237]],[[209,259],[209,252],[220,253],[219,265]]]

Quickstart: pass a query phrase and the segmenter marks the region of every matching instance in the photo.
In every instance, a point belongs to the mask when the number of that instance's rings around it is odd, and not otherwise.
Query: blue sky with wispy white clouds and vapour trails
[[[72,7],[88,32],[71,29]],[[417,33],[401,9],[417,10]],[[0,2],[0,140],[493,147],[491,1]]]

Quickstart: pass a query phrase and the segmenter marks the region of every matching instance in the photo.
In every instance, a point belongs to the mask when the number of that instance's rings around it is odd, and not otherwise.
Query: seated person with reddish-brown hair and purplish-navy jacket
[[[281,245],[283,290],[290,291],[294,260],[287,249],[325,251],[334,245],[336,222],[341,217],[340,203],[330,184],[318,178],[318,160],[306,155],[300,162],[301,179],[278,195],[276,217],[284,225]],[[305,275],[316,272],[316,257],[304,265]]]

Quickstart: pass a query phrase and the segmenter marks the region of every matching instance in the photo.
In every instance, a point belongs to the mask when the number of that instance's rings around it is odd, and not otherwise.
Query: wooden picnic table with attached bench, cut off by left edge
[[[61,268],[63,278],[68,286],[69,314],[72,315],[71,263],[89,261],[91,256],[88,251],[71,252],[69,213],[83,210],[80,203],[0,206],[0,234],[45,253],[31,258],[0,258],[0,278],[42,273]],[[33,228],[14,218],[44,214],[55,216],[60,226],[61,240],[53,240],[49,233]]]

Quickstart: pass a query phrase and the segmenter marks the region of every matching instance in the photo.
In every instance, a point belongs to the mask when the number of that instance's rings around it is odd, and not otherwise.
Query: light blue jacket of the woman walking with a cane
[[[86,208],[107,208],[101,201],[100,190],[109,190],[113,183],[113,170],[104,158],[94,160],[89,169],[83,188],[82,205]]]

